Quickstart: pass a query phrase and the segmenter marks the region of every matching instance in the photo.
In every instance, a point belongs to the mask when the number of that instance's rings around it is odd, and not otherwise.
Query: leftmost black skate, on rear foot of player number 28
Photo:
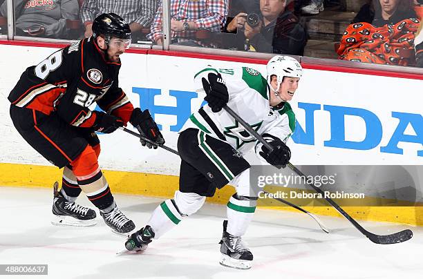
[[[89,227],[97,224],[95,211],[88,207],[70,202],[58,191],[59,183],[53,184],[53,215],[52,224],[57,226]]]

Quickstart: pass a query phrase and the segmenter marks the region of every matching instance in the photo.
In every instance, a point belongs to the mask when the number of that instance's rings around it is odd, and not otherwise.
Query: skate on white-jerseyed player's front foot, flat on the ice
[[[220,258],[219,263],[225,267],[234,269],[250,269],[252,266],[253,255],[245,246],[241,236],[234,236],[226,231],[227,220],[223,221],[223,235],[220,240]]]

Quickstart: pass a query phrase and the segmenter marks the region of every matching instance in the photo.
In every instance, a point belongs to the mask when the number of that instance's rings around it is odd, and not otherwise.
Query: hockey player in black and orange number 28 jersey
[[[129,25],[118,15],[102,14],[93,22],[92,37],[27,68],[8,97],[10,117],[23,139],[64,168],[62,189],[54,187],[53,224],[95,224],[95,211],[75,203],[84,191],[113,231],[135,229],[116,206],[98,165],[100,141],[95,134],[112,133],[130,122],[145,137],[164,143],[149,110],[134,109],[119,87],[119,57],[130,44]],[[104,112],[91,111],[93,102]]]

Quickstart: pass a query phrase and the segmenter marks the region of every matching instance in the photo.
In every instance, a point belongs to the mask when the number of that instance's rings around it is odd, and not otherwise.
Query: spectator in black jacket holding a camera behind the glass
[[[236,15],[227,29],[243,28],[238,32],[238,50],[303,55],[307,43],[306,30],[292,12],[286,10],[286,0],[260,0],[259,21],[256,27],[247,22],[243,12]],[[241,29],[242,30],[242,29]]]

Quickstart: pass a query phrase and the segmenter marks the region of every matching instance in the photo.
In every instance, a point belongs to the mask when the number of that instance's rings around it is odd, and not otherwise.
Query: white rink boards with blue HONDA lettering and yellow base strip
[[[21,72],[54,50],[0,44],[0,52],[8,54],[0,62],[0,67],[6,69],[0,75],[1,185],[50,187],[61,179],[60,171],[33,151],[15,131],[6,99]],[[135,52],[122,55],[120,86],[134,106],[141,104],[142,108],[149,108],[161,126],[167,145],[173,148],[176,148],[177,131],[203,102],[193,88],[196,71],[210,64],[221,69],[249,66],[265,73],[265,61],[251,64],[241,59],[220,61],[157,50]],[[422,77],[375,71],[367,75],[348,68],[303,66],[304,76],[290,102],[298,121],[297,131],[289,142],[293,164],[422,164]],[[176,155],[142,148],[136,138],[122,131],[100,135],[100,141],[100,166],[106,170],[104,173],[115,192],[173,195],[178,186]],[[252,154],[247,158],[252,164],[261,164]],[[423,181],[421,173],[412,176],[417,182]],[[417,184],[415,191],[421,200],[422,184]],[[226,203],[232,193],[232,188],[225,187],[210,200]],[[324,206],[310,210],[337,214]],[[418,206],[360,206],[347,211],[366,220],[423,224]]]

